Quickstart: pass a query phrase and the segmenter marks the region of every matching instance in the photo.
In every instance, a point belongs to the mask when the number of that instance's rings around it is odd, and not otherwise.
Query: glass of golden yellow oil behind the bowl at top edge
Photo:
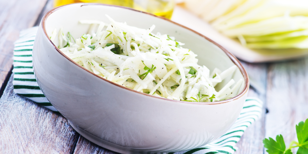
[[[126,6],[168,19],[171,18],[175,5],[174,0],[55,0],[54,2],[55,7],[77,2]]]

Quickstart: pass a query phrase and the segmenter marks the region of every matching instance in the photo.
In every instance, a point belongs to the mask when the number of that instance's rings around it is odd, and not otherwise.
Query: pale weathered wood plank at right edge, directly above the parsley
[[[267,80],[265,136],[282,134],[288,146],[297,139],[295,125],[308,118],[308,57],[270,64]]]

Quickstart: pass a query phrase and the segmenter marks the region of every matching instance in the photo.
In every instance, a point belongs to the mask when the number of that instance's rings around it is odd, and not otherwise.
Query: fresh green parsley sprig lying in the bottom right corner
[[[292,148],[298,148],[296,154],[308,153],[308,119],[305,122],[300,122],[296,125],[296,134],[298,142],[292,141],[289,148],[286,149],[285,141],[282,135],[276,136],[276,141],[272,138],[264,139],[264,147],[267,148],[266,152],[269,154],[292,154]]]

